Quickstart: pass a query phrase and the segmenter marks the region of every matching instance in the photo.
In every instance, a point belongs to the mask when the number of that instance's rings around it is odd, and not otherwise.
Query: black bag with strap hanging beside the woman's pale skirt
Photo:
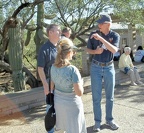
[[[54,108],[54,94],[51,93],[50,82],[51,82],[51,80],[49,79],[50,93],[46,96],[46,103],[51,105],[51,107],[49,108],[49,110],[45,116],[45,120],[44,120],[46,131],[50,131],[56,124],[56,113],[55,113],[55,108]]]

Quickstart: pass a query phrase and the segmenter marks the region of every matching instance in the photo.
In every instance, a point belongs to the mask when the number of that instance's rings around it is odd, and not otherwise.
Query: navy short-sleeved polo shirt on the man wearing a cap
[[[89,36],[87,48],[95,50],[97,46],[103,47],[104,51],[101,54],[95,54],[93,59],[99,62],[110,62],[113,60],[113,53],[106,49],[105,45],[102,44],[99,40],[96,40],[94,38],[90,38],[92,34],[98,33],[100,36],[102,36],[106,41],[110,42],[112,45],[119,47],[119,41],[120,41],[120,35],[112,30],[110,30],[109,34],[105,35],[101,33],[99,30],[92,32]]]

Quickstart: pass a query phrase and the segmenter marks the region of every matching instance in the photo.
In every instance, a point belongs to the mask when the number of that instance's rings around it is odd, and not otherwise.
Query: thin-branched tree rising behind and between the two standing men
[[[53,0],[50,3],[49,8],[47,8],[49,9],[48,12],[57,13],[57,17],[53,21],[71,28],[71,38],[77,38],[85,45],[86,40],[82,36],[95,27],[95,20],[103,10],[106,1]]]

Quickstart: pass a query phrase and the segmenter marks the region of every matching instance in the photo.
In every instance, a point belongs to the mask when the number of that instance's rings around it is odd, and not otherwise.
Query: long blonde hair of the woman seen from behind
[[[70,65],[71,63],[67,59],[67,55],[70,51],[73,50],[73,48],[75,48],[75,46],[70,39],[66,37],[61,39],[57,45],[58,53],[54,65],[56,67],[64,67]]]

